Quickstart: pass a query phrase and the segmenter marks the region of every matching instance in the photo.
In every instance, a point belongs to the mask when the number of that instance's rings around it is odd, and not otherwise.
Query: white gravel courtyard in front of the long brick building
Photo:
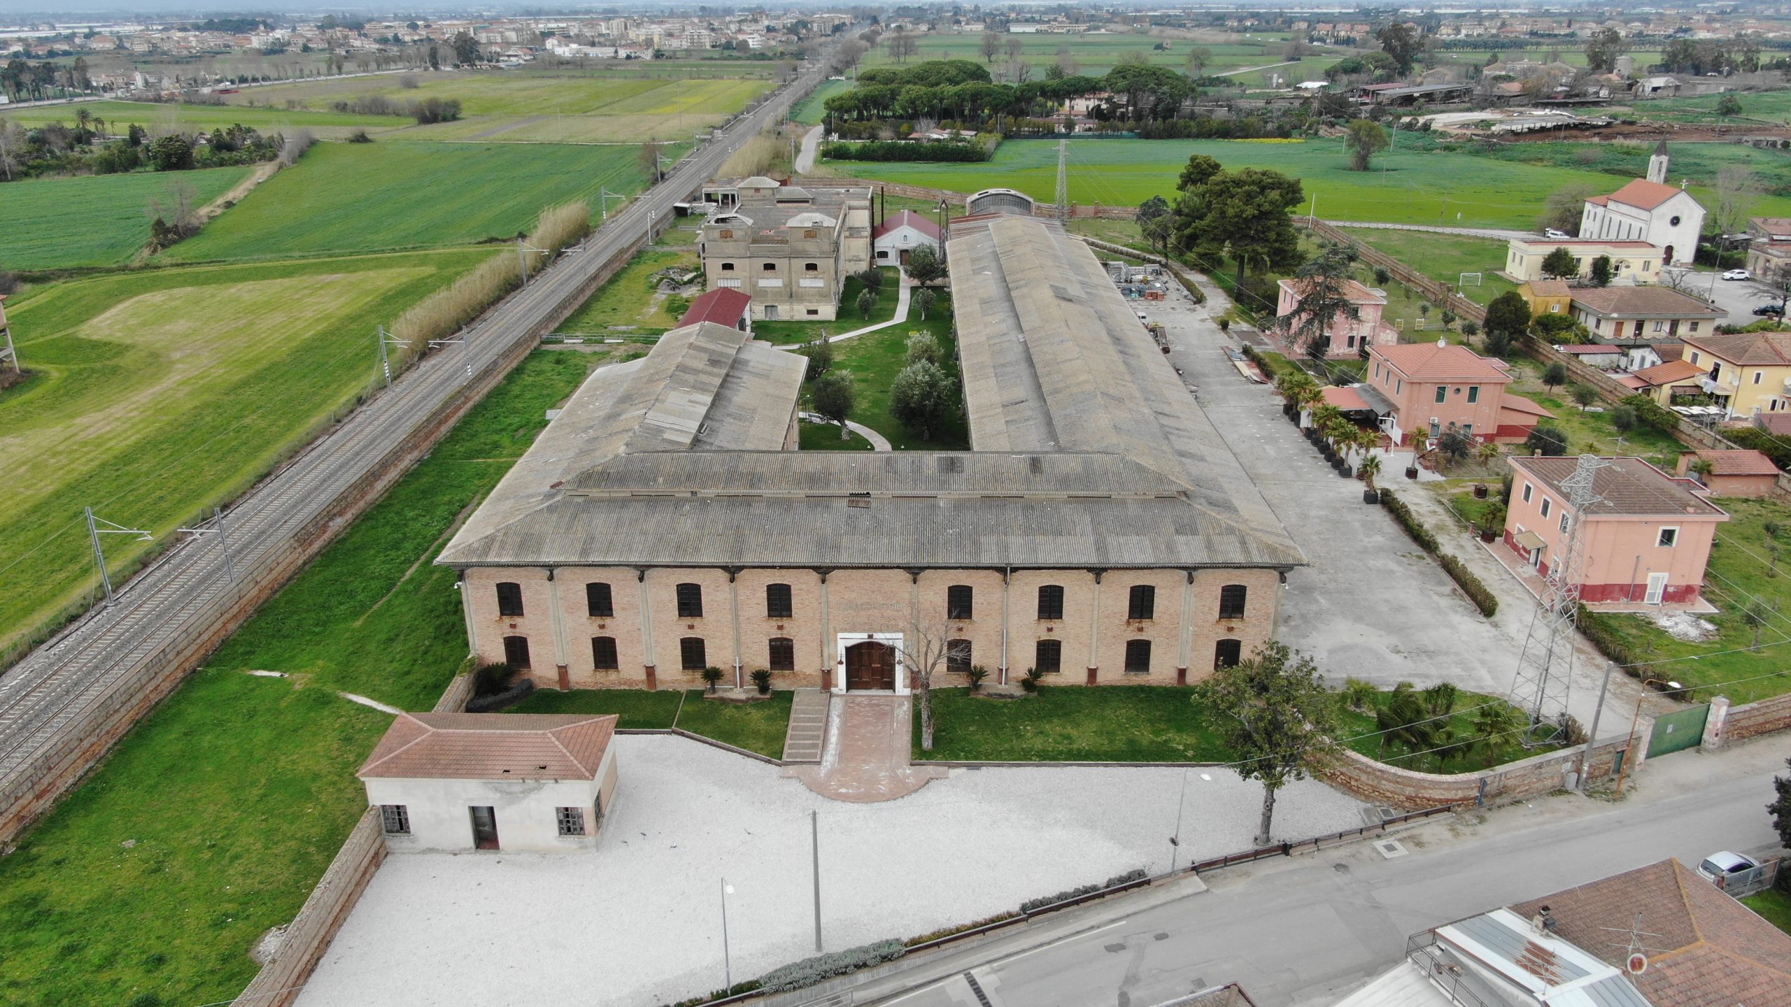
[[[811,810],[826,948],[842,950],[1162,871],[1184,781],[1180,769],[953,770],[899,801],[844,805],[686,738],[614,744],[621,788],[596,853],[387,858],[299,1003],[682,1000],[722,985],[724,876],[736,982],[813,953]],[[1247,849],[1261,787],[1225,769],[1186,779],[1182,862]],[[1361,810],[1295,783],[1275,833],[1354,828]]]

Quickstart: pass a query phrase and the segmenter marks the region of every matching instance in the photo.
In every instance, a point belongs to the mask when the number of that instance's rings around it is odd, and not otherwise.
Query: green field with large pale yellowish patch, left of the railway
[[[143,271],[9,305],[41,376],[0,396],[0,645],[97,590],[84,505],[163,539],[245,489],[367,387],[374,321],[489,254]],[[122,570],[149,543],[106,547]]]

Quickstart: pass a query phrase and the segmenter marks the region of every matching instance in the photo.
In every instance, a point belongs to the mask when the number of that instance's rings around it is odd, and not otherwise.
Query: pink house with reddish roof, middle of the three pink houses
[[[1537,421],[1551,416],[1540,405],[1512,394],[1504,362],[1465,346],[1402,342],[1368,348],[1367,383],[1393,403],[1381,428],[1402,444],[1436,437],[1451,425],[1476,441],[1522,441]]]

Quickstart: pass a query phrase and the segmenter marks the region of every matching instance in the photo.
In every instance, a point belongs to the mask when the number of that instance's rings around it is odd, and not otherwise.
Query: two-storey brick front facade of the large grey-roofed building
[[[591,615],[593,582],[609,586],[613,615]],[[519,588],[521,615],[500,615],[498,584]],[[702,615],[679,615],[679,584],[698,588]],[[772,584],[790,586],[788,616],[770,615]],[[971,588],[969,618],[946,618],[953,586]],[[1041,586],[1062,588],[1062,618],[1039,616]],[[1243,588],[1243,615],[1220,618],[1227,586]],[[654,568],[643,577],[577,566],[550,577],[539,566],[475,566],[460,588],[478,661],[505,661],[505,638],[521,638],[528,676],[546,688],[697,688],[702,667],[722,668],[724,684],[750,684],[754,670],[772,667],[772,640],[790,640],[795,665],[772,672],[774,688],[831,688],[842,634],[915,625],[969,641],[971,663],[990,683],[1017,681],[1035,667],[1039,641],[1057,641],[1058,684],[1186,684],[1213,670],[1221,641],[1248,656],[1273,636],[1281,606],[1273,570]],[[1152,591],[1148,618],[1130,618],[1134,588]],[[600,636],[614,641],[616,668],[596,668]],[[684,668],[686,638],[702,641],[695,668]],[[1144,670],[1127,670],[1132,641],[1150,643]],[[967,683],[955,674],[935,681]]]

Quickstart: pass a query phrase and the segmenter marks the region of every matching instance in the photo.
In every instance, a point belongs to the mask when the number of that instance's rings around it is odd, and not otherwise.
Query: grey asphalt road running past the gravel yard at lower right
[[[969,975],[987,1007],[1144,1007],[1227,982],[1259,1007],[1336,1003],[1431,926],[1667,856],[1696,864],[1718,849],[1777,848],[1764,803],[1784,756],[1771,738],[1680,753],[1650,763],[1619,803],[1551,797],[1481,824],[1402,833],[1404,856],[1354,844],[1213,873],[1207,892],[1091,921],[1051,944],[992,951],[921,989],[874,998],[867,984],[856,1002],[976,1007]]]

